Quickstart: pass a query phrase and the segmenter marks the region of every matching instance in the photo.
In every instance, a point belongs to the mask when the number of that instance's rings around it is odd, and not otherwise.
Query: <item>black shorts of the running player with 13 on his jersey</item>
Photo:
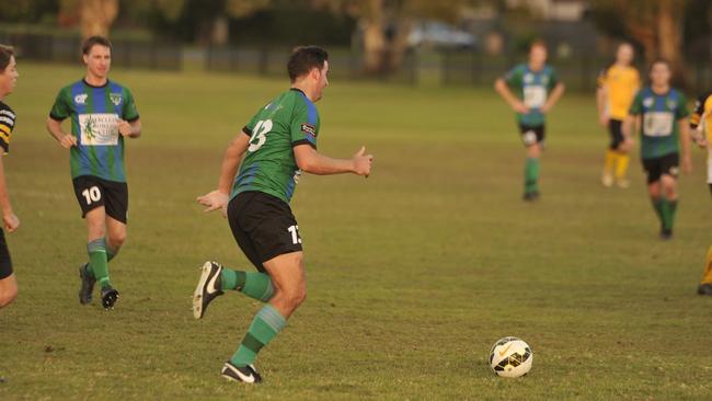
[[[242,252],[260,272],[264,262],[301,251],[299,226],[284,200],[263,192],[238,194],[228,204],[228,221]]]

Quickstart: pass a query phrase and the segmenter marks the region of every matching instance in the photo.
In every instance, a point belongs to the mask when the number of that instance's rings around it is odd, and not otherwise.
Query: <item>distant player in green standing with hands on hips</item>
[[[521,141],[527,148],[524,199],[539,198],[539,158],[546,138],[544,115],[564,94],[564,84],[547,65],[547,45],[535,42],[529,61],[509,70],[495,81],[494,88],[517,113]]]

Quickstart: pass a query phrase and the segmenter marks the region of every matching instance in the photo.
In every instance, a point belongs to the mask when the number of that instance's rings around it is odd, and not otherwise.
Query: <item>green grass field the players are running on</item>
[[[265,383],[246,387],[219,370],[259,303],[227,294],[196,321],[191,295],[206,260],[252,267],[195,197],[286,81],[114,71],[143,136],[127,144],[129,238],[111,264],[122,298],[105,312],[78,302],[85,228],[68,152],[44,128],[83,69],[20,71],[4,161],[20,297],[0,310],[2,400],[712,398],[712,299],[694,294],[710,244],[704,152],[681,179],[676,238],[662,242],[636,161],[630,190],[599,184],[607,137],[590,95],[552,112],[531,205],[513,115],[491,90],[333,81],[320,150],[366,145],[372,175],[302,177],[292,209],[309,296],[261,353]],[[535,352],[525,378],[485,362],[506,335]]]

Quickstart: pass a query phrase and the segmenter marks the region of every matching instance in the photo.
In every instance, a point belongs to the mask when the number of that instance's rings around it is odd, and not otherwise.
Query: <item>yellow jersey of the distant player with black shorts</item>
[[[598,77],[598,87],[606,89],[608,116],[623,121],[641,87],[641,79],[635,68],[612,65]]]

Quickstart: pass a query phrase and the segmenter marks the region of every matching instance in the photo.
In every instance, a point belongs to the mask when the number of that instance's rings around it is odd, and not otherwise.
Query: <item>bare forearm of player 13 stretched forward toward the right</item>
[[[297,145],[294,151],[297,165],[306,173],[318,175],[354,173],[368,176],[371,172],[374,156],[366,153],[366,147],[361,147],[351,159],[329,158],[309,145]]]

